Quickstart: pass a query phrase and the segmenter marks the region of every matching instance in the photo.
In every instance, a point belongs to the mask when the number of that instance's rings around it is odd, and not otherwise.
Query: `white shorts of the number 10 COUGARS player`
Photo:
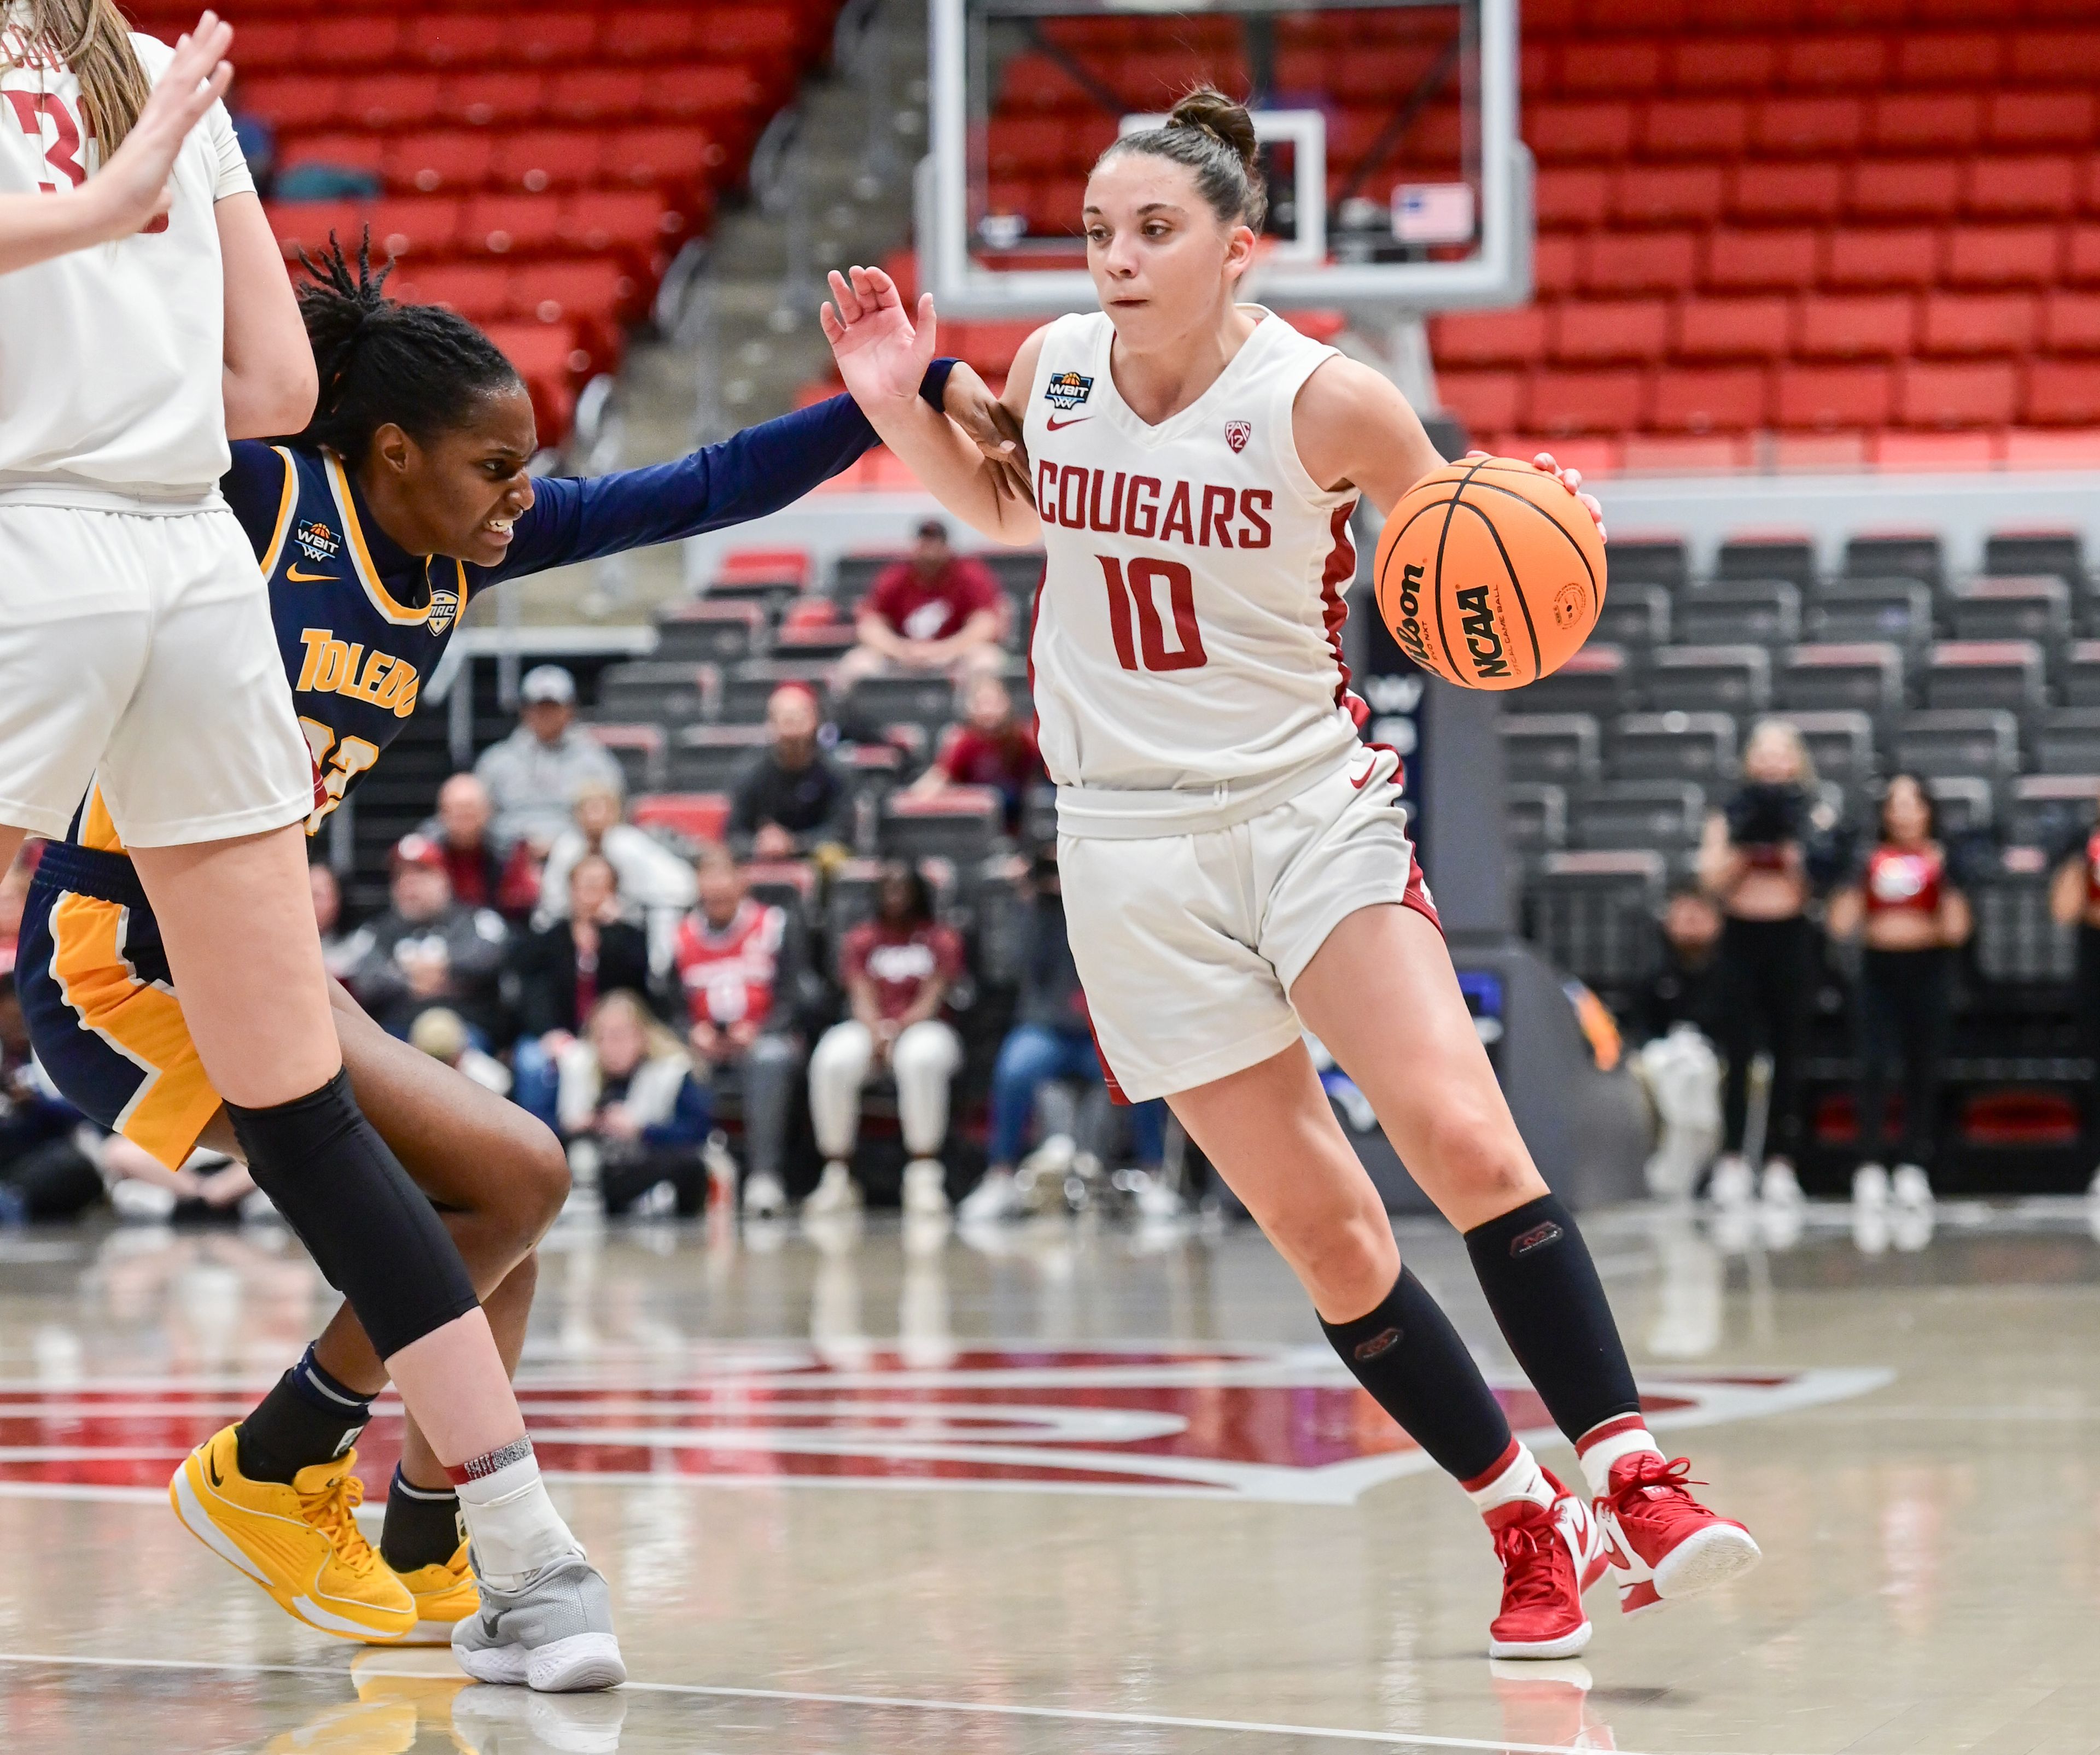
[[[1292,982],[1373,903],[1432,922],[1390,749],[1285,804],[1195,836],[1058,836],[1065,926],[1109,1090],[1172,1096],[1256,1066],[1304,1031]]]

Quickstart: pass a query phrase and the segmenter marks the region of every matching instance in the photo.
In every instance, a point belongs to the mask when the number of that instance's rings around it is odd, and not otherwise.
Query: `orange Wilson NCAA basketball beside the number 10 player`
[[[1422,477],[1378,533],[1378,613],[1403,653],[1462,689],[1552,676],[1602,607],[1590,510],[1514,458]]]

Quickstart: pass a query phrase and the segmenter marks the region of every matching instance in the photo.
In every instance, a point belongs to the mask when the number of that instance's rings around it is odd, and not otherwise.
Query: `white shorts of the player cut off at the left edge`
[[[0,506],[0,823],[63,836],[90,781],[124,846],[313,810],[269,586],[223,506]]]

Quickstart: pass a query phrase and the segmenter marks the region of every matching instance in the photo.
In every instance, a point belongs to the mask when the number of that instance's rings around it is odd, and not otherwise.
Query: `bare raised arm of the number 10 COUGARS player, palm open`
[[[924,407],[914,395],[932,359],[932,296],[920,300],[914,323],[897,283],[882,269],[853,269],[850,279],[834,273],[832,302],[823,306],[821,321],[853,399],[926,491],[993,542],[1037,542],[1042,523],[1035,506],[1014,493],[1012,468],[987,458],[953,420]],[[1006,380],[1008,409],[1014,384],[1033,380],[1037,353],[1042,338],[1029,336]],[[1018,456],[1018,441],[1012,443]]]

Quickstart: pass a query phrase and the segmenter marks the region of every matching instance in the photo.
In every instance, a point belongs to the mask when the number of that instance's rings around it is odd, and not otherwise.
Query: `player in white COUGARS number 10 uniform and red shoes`
[[[1340,644],[1348,516],[1359,498],[1390,510],[1441,460],[1392,384],[1235,302],[1262,210],[1254,124],[1218,92],[1109,147],[1084,210],[1100,313],[1023,344],[998,416],[1018,445],[993,445],[998,460],[909,405],[930,300],[914,327],[880,271],[832,275],[825,334],[876,430],[951,512],[1048,550],[1029,657],[1071,949],[1111,1079],[1168,1098],[1348,1369],[1485,1514],[1504,1566],[1489,1652],[1569,1656],[1606,1568],[1634,1612],[1737,1577],[1758,1547],[1646,1432],[1581,1232],[1460,995],[1399,758],[1359,741]],[[1033,506],[1002,491],[1010,462]],[[1306,1029],[1466,1232],[1588,1495],[1510,1436],[1401,1266]]]

